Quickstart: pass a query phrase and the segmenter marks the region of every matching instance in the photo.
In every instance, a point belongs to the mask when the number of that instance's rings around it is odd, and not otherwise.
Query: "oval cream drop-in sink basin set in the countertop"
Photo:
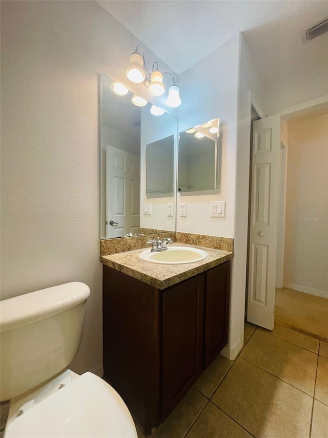
[[[208,257],[208,253],[198,248],[188,247],[171,247],[167,251],[152,253],[151,250],[143,251],[139,254],[140,259],[150,261],[151,263],[162,264],[181,264],[193,263]]]

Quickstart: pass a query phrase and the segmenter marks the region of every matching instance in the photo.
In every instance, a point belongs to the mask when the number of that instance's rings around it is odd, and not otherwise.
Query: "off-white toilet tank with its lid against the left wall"
[[[77,353],[89,287],[71,282],[0,301],[0,401],[64,370]]]

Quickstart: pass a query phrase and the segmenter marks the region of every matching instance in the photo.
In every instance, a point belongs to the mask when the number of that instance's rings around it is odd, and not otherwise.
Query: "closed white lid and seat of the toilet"
[[[50,395],[6,428],[5,438],[137,438],[124,401],[87,372]]]

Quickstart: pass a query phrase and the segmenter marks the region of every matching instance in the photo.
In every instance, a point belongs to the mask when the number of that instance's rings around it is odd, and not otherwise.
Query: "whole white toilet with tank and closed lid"
[[[129,409],[103,379],[67,369],[90,289],[72,282],[0,302],[5,438],[137,438]]]

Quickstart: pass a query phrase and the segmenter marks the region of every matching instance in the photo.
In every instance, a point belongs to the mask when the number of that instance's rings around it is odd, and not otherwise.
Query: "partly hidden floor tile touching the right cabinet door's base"
[[[227,374],[233,361],[219,354],[212,364],[201,374],[195,383],[197,388],[206,397],[210,398],[223,377]]]

